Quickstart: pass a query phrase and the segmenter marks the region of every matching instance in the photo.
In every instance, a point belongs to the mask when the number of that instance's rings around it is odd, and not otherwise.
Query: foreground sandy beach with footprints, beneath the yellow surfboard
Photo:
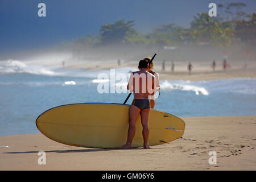
[[[182,119],[182,138],[148,150],[72,147],[40,133],[0,137],[0,170],[256,169],[256,115]],[[39,151],[46,152],[45,165],[38,164]],[[217,164],[209,164],[209,151],[216,152]]]

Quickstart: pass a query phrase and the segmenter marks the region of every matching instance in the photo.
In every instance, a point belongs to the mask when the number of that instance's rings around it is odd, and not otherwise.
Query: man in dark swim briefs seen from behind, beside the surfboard
[[[149,67],[148,61],[146,60],[139,61],[138,68],[139,71],[131,74],[130,80],[127,84],[127,89],[134,93],[135,102],[134,105],[131,105],[129,109],[129,129],[127,142],[124,146],[122,146],[122,148],[131,148],[131,143],[135,135],[135,123],[139,117],[139,114],[141,114],[141,123],[143,128],[143,148],[150,148],[148,146],[148,115],[150,112],[150,100],[148,100],[148,96],[151,95],[151,92],[155,92],[155,76],[147,71]],[[151,85],[148,85],[149,82]],[[150,88],[150,90],[148,90],[148,88]]]

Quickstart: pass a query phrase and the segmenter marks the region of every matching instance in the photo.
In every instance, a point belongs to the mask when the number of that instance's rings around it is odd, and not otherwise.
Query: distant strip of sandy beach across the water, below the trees
[[[246,68],[245,68],[246,63]],[[211,61],[197,61],[192,63],[191,75],[188,74],[188,63],[179,61],[175,63],[175,71],[171,72],[171,62],[167,61],[165,71],[162,71],[162,61],[155,60],[154,71],[159,73],[160,80],[220,80],[226,78],[255,78],[256,77],[256,61],[230,61],[230,68],[222,68],[222,60],[217,61],[215,71],[210,67]],[[120,66],[115,61],[72,61],[67,63],[69,68],[81,68],[86,71],[94,71],[100,69],[116,69],[116,68],[134,68],[138,69],[138,61],[125,60]]]

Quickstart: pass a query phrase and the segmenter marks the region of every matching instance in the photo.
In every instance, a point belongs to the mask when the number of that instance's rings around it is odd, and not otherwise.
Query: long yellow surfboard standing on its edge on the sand
[[[38,130],[56,142],[77,147],[119,148],[127,140],[129,106],[81,103],[53,107],[36,119]],[[185,122],[175,115],[150,110],[148,145],[180,138]],[[143,147],[141,117],[136,122],[132,147]]]

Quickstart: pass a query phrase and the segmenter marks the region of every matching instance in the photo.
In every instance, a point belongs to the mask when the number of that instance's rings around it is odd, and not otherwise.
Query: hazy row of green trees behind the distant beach
[[[115,23],[103,24],[98,35],[89,34],[74,40],[74,43],[86,47],[106,46],[109,44],[142,46],[179,46],[187,44],[210,44],[228,47],[232,43],[256,45],[256,14],[242,11],[245,3],[227,3],[218,5],[216,17],[208,13],[197,14],[190,28],[174,23],[164,24],[150,33],[143,34],[135,30],[134,20],[119,19]]]

